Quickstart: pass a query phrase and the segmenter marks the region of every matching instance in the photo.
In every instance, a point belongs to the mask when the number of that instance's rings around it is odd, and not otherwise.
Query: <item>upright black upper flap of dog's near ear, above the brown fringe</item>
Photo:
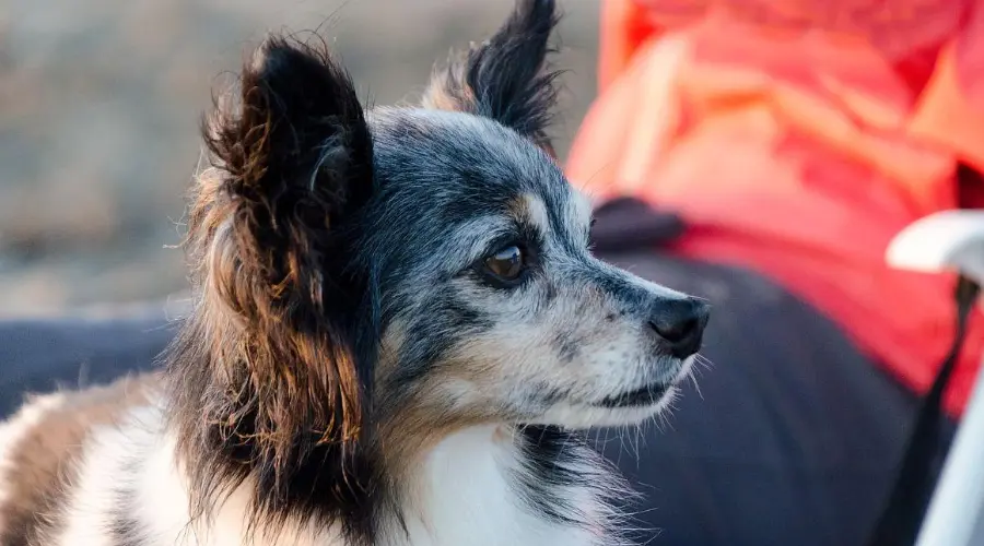
[[[216,108],[204,136],[229,192],[270,214],[271,233],[291,227],[281,219],[321,230],[367,199],[370,131],[327,47],[268,37],[244,67],[238,98]]]

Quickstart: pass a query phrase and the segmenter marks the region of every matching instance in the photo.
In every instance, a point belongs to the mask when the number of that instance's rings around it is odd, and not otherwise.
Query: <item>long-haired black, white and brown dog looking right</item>
[[[553,1],[365,109],[270,35],[203,124],[159,373],[0,426],[0,543],[625,543],[577,430],[659,414],[708,305],[594,258],[548,135]]]

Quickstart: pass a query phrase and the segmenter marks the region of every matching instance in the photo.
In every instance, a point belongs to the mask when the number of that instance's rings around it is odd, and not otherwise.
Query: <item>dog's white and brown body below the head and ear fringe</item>
[[[176,439],[166,430],[162,393],[155,381],[126,380],[99,391],[97,396],[85,392],[38,397],[11,420],[8,425],[11,428],[0,429],[4,446],[21,447],[19,453],[8,453],[19,460],[21,472],[5,475],[4,482],[0,483],[3,490],[15,492],[21,499],[19,510],[7,507],[0,512],[8,517],[0,520],[0,530],[7,531],[0,535],[4,538],[2,544],[348,544],[339,529],[311,523],[289,521],[277,536],[263,536],[262,531],[249,530],[248,503],[253,484],[248,478],[230,491],[207,524],[190,523],[188,499],[191,494],[175,461]],[[83,420],[89,425],[85,432],[73,437],[73,440],[83,441],[65,444],[78,448],[71,453],[75,461],[71,466],[55,472],[54,461],[27,461],[17,456],[37,452],[40,448],[23,442],[25,431],[44,430],[50,437],[56,428],[82,430],[78,425]],[[542,509],[547,509],[551,495],[574,500],[578,495],[614,492],[601,489],[613,484],[607,474],[599,475],[606,472],[599,455],[576,441],[562,446],[560,442],[573,439],[550,431],[512,430],[514,436],[508,436],[509,432],[494,426],[471,427],[442,440],[414,470],[417,492],[400,508],[407,530],[395,521],[379,525],[376,541],[379,544],[479,546],[598,544],[595,533],[551,522],[524,507],[529,502],[543,502]],[[546,441],[531,453],[531,442],[541,441],[541,432]],[[524,467],[536,462],[532,458],[547,453],[562,458]],[[560,466],[552,467],[554,463]],[[40,472],[22,473],[32,467]],[[565,472],[572,474],[565,476]],[[575,475],[578,482],[573,480]],[[549,494],[528,491],[532,495],[530,498],[517,495],[527,489],[523,480],[543,479],[557,479]],[[585,497],[576,508],[597,510],[606,507],[600,500]],[[553,509],[567,517],[583,518],[564,507],[554,506]],[[604,521],[605,517],[595,514],[591,518]],[[12,532],[17,529],[24,530],[24,534]],[[32,531],[26,531],[28,529]]]

